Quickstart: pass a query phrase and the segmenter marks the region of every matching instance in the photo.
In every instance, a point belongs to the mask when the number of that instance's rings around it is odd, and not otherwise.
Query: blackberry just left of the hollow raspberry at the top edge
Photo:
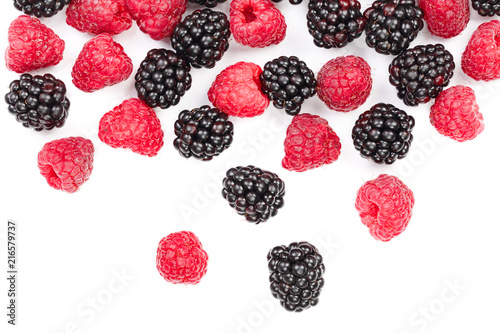
[[[195,68],[213,68],[229,48],[229,21],[223,12],[198,9],[179,22],[171,43]]]

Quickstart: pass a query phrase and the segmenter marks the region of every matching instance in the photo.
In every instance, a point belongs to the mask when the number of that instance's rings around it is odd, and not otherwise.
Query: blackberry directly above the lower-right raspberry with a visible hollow
[[[354,148],[362,157],[392,164],[408,154],[415,119],[392,104],[379,103],[362,113],[352,129]]]

